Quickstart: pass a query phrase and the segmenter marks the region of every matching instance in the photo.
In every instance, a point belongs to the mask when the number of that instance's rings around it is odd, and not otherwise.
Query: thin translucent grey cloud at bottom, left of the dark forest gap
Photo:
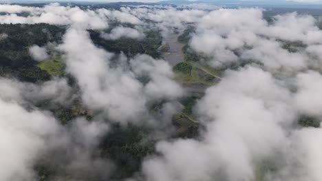
[[[39,156],[39,162],[56,167],[52,180],[107,180],[114,164],[98,154],[98,144],[109,131],[102,120],[87,121],[78,118],[52,136],[47,152]],[[52,159],[47,159],[52,158]],[[62,164],[63,163],[63,164]]]

